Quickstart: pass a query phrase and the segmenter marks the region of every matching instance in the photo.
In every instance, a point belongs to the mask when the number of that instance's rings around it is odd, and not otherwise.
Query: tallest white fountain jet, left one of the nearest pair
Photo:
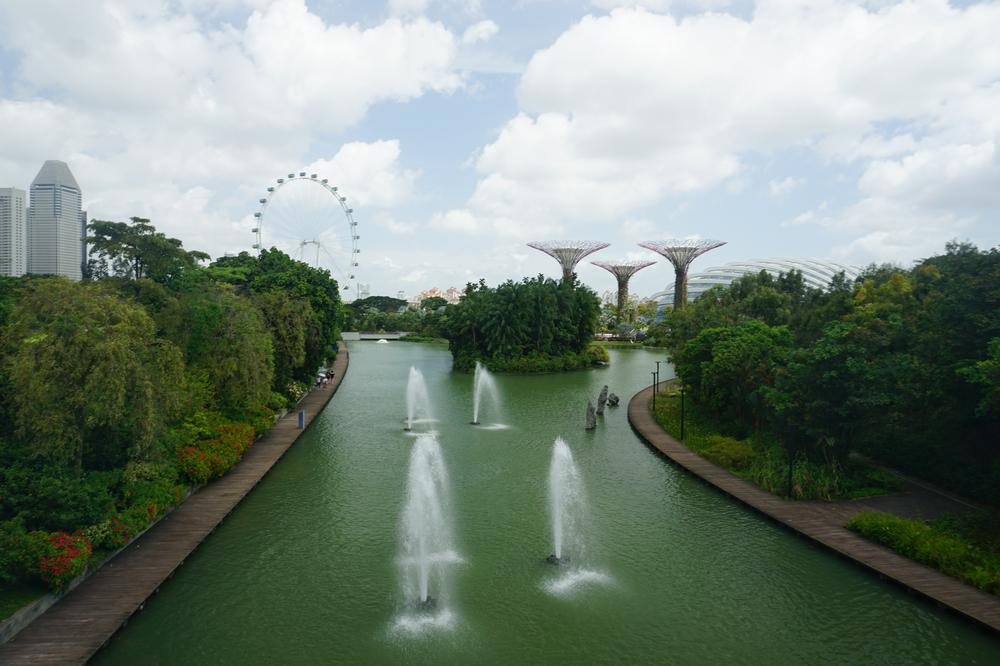
[[[419,611],[432,611],[446,599],[448,565],[460,561],[451,525],[441,446],[434,435],[421,434],[410,454],[399,557],[403,594]]]

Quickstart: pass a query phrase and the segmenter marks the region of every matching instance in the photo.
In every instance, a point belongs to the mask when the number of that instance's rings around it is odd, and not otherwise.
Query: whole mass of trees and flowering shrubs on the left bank
[[[276,250],[202,268],[148,220],[90,229],[90,281],[0,278],[0,584],[32,594],[91,557],[77,531],[119,548],[235,464],[343,318],[329,273]]]

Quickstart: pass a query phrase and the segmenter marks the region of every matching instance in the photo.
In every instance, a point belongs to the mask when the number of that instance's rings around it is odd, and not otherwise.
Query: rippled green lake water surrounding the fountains
[[[625,403],[657,355],[498,376],[506,430],[468,425],[472,378],[443,347],[353,343],[323,415],[130,620],[109,664],[996,664],[1000,641],[772,525],[653,454]],[[454,622],[409,633],[396,564],[413,438],[410,366],[426,377],[450,475]],[[603,384],[622,397],[583,429]],[[591,566],[561,594],[546,484],[563,436],[590,506]],[[433,591],[432,591],[433,594]]]

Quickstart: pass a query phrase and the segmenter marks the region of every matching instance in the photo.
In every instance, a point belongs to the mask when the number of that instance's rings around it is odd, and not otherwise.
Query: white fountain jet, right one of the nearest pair
[[[562,437],[557,437],[549,466],[549,514],[552,519],[553,552],[545,558],[546,562],[568,564],[570,554],[579,559],[583,550],[582,522],[585,511],[580,471],[573,462],[569,446]]]

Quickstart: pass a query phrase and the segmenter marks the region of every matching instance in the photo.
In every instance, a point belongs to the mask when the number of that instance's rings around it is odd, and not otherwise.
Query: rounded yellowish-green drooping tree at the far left
[[[178,416],[183,362],[139,306],[100,286],[31,285],[4,331],[15,423],[37,452],[79,476],[98,446],[124,464],[151,455]]]

